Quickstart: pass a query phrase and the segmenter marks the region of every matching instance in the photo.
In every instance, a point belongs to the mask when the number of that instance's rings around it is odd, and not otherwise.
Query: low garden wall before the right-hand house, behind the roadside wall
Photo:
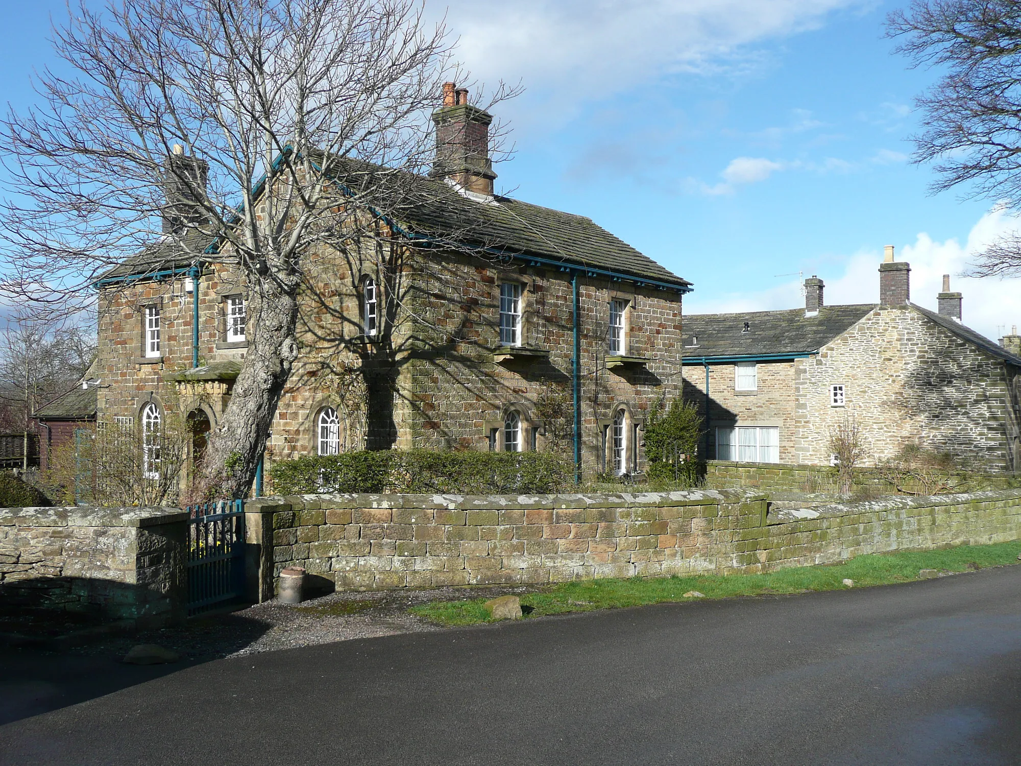
[[[979,484],[984,489],[1006,489],[1010,477],[1003,474],[961,474],[956,483]],[[875,487],[891,491],[885,479],[863,468],[855,480],[857,486]],[[836,472],[828,466],[810,466],[784,463],[736,463],[733,461],[707,461],[706,485],[715,489],[749,489],[774,492],[837,492]]]

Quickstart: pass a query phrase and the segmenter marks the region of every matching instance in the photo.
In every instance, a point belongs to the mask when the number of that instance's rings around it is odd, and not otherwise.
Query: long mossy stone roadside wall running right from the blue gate
[[[338,590],[758,573],[1021,537],[1021,490],[771,511],[741,490],[302,495],[246,504],[259,599],[286,566]]]

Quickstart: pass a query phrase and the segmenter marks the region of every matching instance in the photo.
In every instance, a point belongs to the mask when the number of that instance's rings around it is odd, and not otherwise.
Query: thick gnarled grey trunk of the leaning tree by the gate
[[[272,279],[249,291],[248,350],[205,449],[202,475],[194,488],[199,498],[244,497],[251,487],[298,355],[296,293]]]

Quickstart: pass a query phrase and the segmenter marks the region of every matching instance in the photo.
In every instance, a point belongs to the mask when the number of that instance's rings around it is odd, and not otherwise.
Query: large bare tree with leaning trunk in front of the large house
[[[88,306],[109,269],[136,256],[155,272],[167,250],[240,274],[249,346],[201,477],[240,495],[298,355],[315,254],[398,280],[399,222],[453,194],[417,182],[429,113],[459,75],[451,44],[420,0],[120,0],[79,6],[55,45],[76,76],[43,73],[42,105],[3,124],[7,288]]]

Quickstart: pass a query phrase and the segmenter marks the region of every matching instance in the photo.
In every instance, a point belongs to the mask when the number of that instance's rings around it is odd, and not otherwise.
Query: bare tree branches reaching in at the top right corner
[[[1021,201],[1021,13],[1014,0],[915,0],[887,19],[887,35],[939,80],[916,99],[924,117],[916,162],[935,162],[935,192]],[[1021,273],[1021,236],[978,253],[975,276]]]

